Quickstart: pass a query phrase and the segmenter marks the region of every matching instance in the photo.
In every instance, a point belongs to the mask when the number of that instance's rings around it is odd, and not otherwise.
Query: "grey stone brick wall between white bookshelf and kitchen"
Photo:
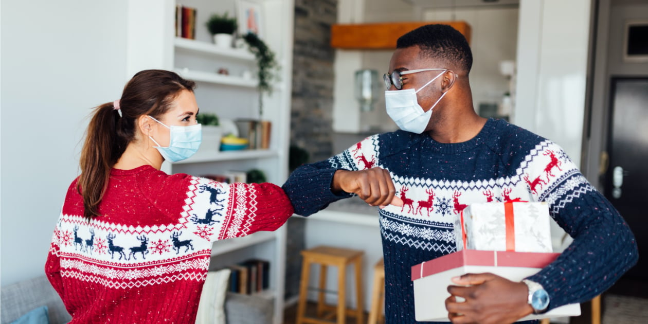
[[[290,145],[308,151],[310,162],[333,154],[333,62],[330,26],[338,17],[337,0],[295,0]],[[305,218],[288,220],[286,299],[299,295]]]

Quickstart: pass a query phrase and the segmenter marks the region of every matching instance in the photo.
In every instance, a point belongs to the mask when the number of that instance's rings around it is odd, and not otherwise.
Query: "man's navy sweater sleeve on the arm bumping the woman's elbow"
[[[367,137],[329,159],[296,168],[282,186],[290,198],[295,214],[310,216],[353,194],[330,190],[337,170],[365,170],[378,165],[378,135]]]

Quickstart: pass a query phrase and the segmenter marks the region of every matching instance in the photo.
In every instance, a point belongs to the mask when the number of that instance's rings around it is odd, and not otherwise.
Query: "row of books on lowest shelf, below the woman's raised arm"
[[[232,271],[229,275],[230,292],[249,295],[270,288],[270,262],[267,260],[249,259],[227,268]]]

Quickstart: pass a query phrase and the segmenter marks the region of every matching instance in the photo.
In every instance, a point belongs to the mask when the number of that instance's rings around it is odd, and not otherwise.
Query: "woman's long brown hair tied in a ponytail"
[[[124,87],[119,111],[113,102],[94,108],[81,150],[81,175],[76,190],[83,197],[84,217],[100,216],[98,205],[104,197],[110,169],[135,139],[136,122],[142,115],[156,119],[167,112],[180,91],[194,91],[196,84],[174,72],[144,70]]]

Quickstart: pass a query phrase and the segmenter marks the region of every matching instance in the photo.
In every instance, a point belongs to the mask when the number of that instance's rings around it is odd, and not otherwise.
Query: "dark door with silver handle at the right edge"
[[[628,222],[639,261],[624,276],[648,281],[648,78],[613,78],[605,196]]]

